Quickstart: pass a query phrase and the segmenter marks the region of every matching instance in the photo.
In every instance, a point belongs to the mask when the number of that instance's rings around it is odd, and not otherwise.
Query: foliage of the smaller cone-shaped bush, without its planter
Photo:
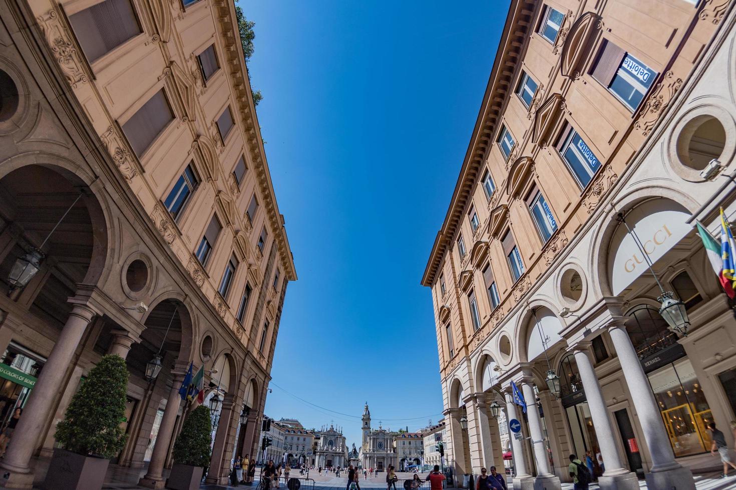
[[[212,419],[210,409],[204,405],[194,408],[184,421],[174,443],[174,463],[189,466],[210,466],[212,443]]]

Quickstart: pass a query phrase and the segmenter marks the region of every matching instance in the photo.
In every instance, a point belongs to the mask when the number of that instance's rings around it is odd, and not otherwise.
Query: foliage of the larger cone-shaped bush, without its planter
[[[56,427],[56,440],[72,453],[113,458],[125,445],[128,369],[117,354],[103,356],[82,382]]]

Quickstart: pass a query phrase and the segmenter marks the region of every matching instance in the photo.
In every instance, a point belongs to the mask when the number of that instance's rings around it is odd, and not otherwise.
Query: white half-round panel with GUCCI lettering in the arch
[[[612,264],[612,270],[609,272],[613,294],[618,295],[648,270],[646,256],[653,264],[656,263],[693,229],[687,224],[690,213],[677,209],[657,209],[661,208],[663,203],[674,204],[660,199],[652,204],[643,205],[647,209],[637,208],[626,216],[626,223],[636,232],[641,247],[631,234],[626,233],[624,226],[620,226],[616,231],[612,251],[609,252],[613,254],[613,260],[609,258],[609,264]]]

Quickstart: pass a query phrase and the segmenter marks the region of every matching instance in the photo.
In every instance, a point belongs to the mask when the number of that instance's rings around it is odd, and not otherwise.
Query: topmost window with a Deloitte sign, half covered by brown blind
[[[657,78],[656,71],[609,40],[601,47],[591,75],[631,111],[639,107]]]

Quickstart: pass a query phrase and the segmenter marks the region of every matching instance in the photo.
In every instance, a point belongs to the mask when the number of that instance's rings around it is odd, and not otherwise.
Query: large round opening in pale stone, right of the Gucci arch
[[[718,118],[698,115],[687,121],[677,139],[677,154],[683,165],[703,170],[712,159],[720,159],[726,146],[726,129]]]

